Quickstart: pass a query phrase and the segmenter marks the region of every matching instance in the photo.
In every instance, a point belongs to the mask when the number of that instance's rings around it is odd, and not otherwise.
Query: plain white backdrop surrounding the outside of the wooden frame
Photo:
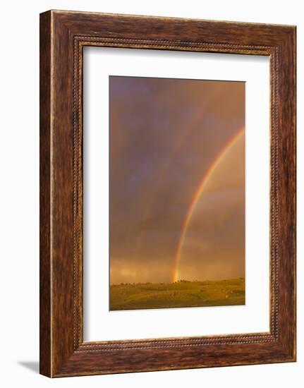
[[[4,387],[301,387],[304,369],[304,133],[298,112],[298,363],[49,380],[38,369],[39,12],[49,8],[298,25],[298,107],[304,104],[301,1],[6,1],[1,4],[1,385]],[[302,378],[301,378],[302,377]]]

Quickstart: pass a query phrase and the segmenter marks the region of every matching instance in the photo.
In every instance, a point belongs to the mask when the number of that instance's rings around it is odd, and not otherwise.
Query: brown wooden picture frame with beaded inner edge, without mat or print
[[[270,59],[270,331],[83,341],[84,46]],[[257,241],[258,243],[258,241]],[[40,15],[40,373],[48,377],[296,360],[296,27],[47,11]]]

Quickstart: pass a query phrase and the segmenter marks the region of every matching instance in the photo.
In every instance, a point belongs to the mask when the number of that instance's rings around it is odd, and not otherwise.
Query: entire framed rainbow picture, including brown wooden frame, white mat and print
[[[292,362],[295,303],[296,27],[42,13],[42,375]]]

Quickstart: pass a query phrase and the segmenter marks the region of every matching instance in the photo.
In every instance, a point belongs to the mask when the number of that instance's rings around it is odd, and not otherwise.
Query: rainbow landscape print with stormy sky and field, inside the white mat
[[[110,310],[245,304],[245,83],[109,77]]]

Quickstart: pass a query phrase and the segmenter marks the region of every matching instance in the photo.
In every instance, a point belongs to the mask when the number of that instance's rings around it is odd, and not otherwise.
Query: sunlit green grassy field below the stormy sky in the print
[[[110,310],[244,304],[245,279],[243,278],[110,286]]]

